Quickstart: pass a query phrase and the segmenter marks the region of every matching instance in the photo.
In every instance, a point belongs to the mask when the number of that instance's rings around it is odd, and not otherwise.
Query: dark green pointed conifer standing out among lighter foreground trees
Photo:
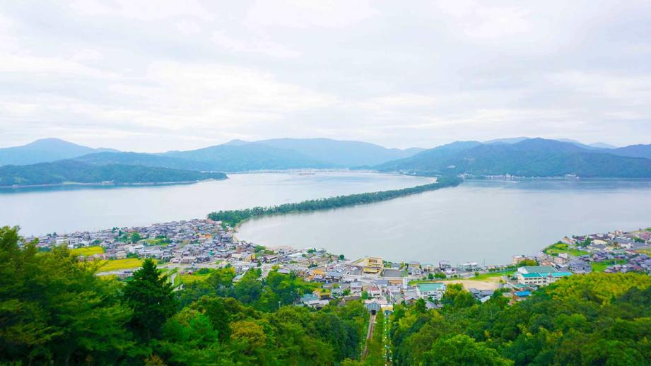
[[[161,276],[151,259],[143,262],[124,288],[124,300],[134,312],[129,324],[143,340],[158,336],[160,327],[175,313],[176,300],[172,290],[168,276]]]

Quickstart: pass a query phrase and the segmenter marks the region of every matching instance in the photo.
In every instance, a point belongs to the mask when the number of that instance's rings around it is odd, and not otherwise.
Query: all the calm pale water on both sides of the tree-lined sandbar
[[[427,182],[363,172],[264,173],[175,186],[3,190],[0,225],[20,225],[23,235],[148,225]],[[649,226],[649,181],[469,181],[366,206],[258,218],[237,236],[269,246],[325,247],[349,257],[493,264],[535,254],[565,235]]]

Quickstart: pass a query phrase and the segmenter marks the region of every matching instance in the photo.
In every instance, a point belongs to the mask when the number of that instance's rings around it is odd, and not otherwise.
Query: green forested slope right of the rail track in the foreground
[[[448,286],[392,316],[394,365],[650,365],[651,276],[571,276],[509,306]]]

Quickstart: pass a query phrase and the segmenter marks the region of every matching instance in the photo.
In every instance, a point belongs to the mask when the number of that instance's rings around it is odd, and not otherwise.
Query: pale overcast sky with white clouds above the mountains
[[[0,1],[0,147],[651,143],[651,1]]]

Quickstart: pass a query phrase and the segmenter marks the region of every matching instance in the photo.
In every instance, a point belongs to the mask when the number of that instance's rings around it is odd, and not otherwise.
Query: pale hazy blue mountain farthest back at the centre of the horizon
[[[332,140],[330,138],[276,138],[255,141],[252,144],[298,151],[332,167],[378,165],[390,160],[408,158],[423,148],[385,148],[374,143]]]

